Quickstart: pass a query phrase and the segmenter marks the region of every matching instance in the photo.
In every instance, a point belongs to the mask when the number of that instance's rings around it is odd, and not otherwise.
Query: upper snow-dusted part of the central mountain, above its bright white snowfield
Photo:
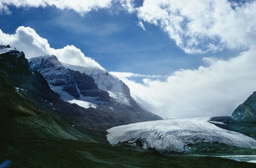
[[[70,101],[75,98],[102,103],[96,101],[108,102],[111,97],[117,104],[134,105],[128,86],[106,70],[64,64],[53,55],[29,59],[29,65],[42,73],[52,90],[61,95],[63,100]],[[101,98],[88,100],[88,96]]]

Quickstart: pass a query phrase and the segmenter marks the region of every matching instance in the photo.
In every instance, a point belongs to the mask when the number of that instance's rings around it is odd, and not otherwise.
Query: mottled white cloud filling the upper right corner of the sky
[[[144,0],[142,6],[129,11],[160,26],[186,53],[206,53],[254,45],[255,8],[256,1]]]

